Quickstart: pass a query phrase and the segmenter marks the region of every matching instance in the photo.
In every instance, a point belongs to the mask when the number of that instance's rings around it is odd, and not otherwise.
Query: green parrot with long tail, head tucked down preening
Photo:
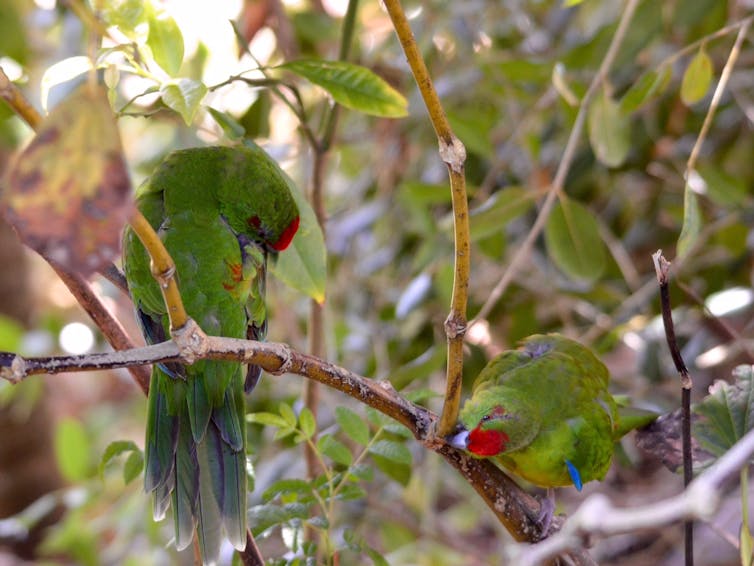
[[[171,153],[136,192],[139,210],[173,261],[186,311],[208,334],[263,340],[265,274],[296,234],[299,212],[286,179],[260,148],[203,147]],[[126,279],[148,343],[169,338],[150,259],[127,229]],[[223,538],[246,546],[244,393],[261,368],[200,360],[155,364],[148,399],[144,487],[154,518],[172,503],[181,550],[196,530],[202,561]],[[223,535],[224,531],[224,535]]]

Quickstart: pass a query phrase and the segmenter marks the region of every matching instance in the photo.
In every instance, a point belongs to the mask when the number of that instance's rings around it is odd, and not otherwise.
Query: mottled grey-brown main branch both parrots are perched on
[[[518,487],[490,460],[472,458],[437,437],[434,434],[437,415],[403,398],[389,381],[367,379],[327,361],[297,352],[286,344],[214,336],[204,336],[200,340],[203,346],[197,349],[203,351],[202,358],[255,364],[273,375],[298,374],[337,389],[392,417],[406,426],[426,448],[440,454],[458,470],[516,540],[535,542],[559,527],[561,521],[556,519],[550,531],[543,533],[538,521],[540,503],[536,498]],[[169,361],[187,362],[181,348],[172,340],[144,348],[83,356],[24,358],[12,353],[0,353],[0,378],[17,383],[35,374],[102,370]],[[585,557],[579,563],[590,562]]]

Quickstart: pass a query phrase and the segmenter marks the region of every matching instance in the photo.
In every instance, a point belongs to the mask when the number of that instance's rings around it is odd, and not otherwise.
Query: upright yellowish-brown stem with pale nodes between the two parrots
[[[440,143],[440,157],[448,168],[450,192],[453,203],[453,228],[455,243],[455,268],[450,313],[445,320],[448,340],[448,368],[445,384],[445,402],[438,427],[441,436],[450,434],[458,420],[463,379],[463,338],[466,335],[466,305],[468,302],[469,273],[471,270],[471,245],[469,238],[469,205],[466,196],[464,163],[466,148],[452,129],[440,98],[432,84],[429,71],[421,56],[399,0],[385,0],[393,28],[406,54],[419,92],[427,107],[429,118]]]

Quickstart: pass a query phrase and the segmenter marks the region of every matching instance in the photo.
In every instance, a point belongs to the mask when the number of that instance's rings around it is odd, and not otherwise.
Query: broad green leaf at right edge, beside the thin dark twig
[[[710,394],[693,412],[694,437],[715,456],[722,456],[754,426],[754,367],[738,366],[735,382],[715,381]]]

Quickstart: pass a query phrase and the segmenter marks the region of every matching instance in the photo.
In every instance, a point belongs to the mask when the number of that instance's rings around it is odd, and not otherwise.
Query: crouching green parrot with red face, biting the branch
[[[605,477],[615,442],[657,414],[623,407],[605,365],[558,334],[534,335],[490,360],[460,412],[456,448],[546,488]]]

